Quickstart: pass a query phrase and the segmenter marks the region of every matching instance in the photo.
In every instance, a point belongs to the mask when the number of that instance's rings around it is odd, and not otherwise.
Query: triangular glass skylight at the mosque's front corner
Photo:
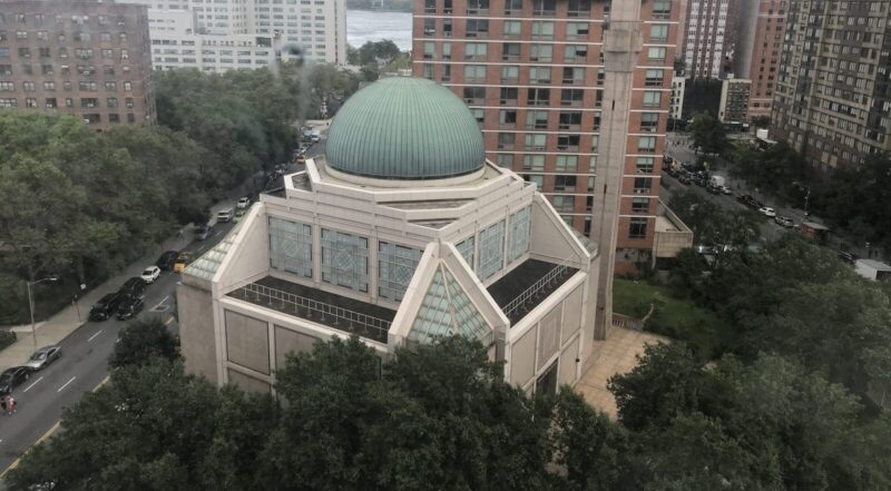
[[[430,343],[437,337],[460,334],[482,340],[488,333],[488,324],[468,294],[449,269],[440,264],[418,310],[409,338]]]

